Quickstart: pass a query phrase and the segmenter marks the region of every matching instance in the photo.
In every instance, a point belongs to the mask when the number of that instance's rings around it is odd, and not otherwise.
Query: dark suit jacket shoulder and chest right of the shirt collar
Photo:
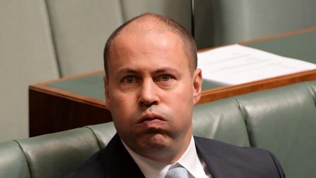
[[[235,175],[233,177],[285,177],[279,161],[267,150],[240,147],[201,137],[194,137],[194,141],[211,172],[231,172]]]

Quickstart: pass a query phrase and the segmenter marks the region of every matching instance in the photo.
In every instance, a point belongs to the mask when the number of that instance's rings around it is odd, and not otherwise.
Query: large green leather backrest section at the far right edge
[[[270,150],[288,177],[315,177],[316,106],[304,83],[236,97],[251,146]]]

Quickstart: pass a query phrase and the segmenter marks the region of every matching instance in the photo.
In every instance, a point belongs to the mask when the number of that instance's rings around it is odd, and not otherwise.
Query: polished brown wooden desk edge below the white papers
[[[198,104],[310,80],[316,80],[316,70],[302,71],[240,85],[204,90],[202,91],[201,99]]]

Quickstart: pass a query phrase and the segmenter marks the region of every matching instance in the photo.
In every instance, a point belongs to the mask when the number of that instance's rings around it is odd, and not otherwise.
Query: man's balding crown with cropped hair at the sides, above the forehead
[[[143,23],[145,24],[152,23],[152,24],[148,26],[148,25],[143,25]],[[135,28],[135,26],[137,28]],[[193,74],[197,66],[197,56],[196,56],[196,45],[190,33],[187,32],[184,27],[182,27],[180,24],[178,24],[176,21],[170,18],[165,18],[156,14],[143,14],[125,22],[123,25],[117,28],[108,38],[105,44],[105,50],[104,50],[104,66],[105,66],[106,76],[108,75],[107,58],[108,58],[108,53],[110,53],[111,42],[121,33],[125,33],[125,32],[133,33],[139,30],[140,30],[140,33],[144,33],[144,34],[171,32],[175,34],[176,36],[178,36],[182,43],[181,44],[182,49],[189,60],[188,61],[189,70]]]

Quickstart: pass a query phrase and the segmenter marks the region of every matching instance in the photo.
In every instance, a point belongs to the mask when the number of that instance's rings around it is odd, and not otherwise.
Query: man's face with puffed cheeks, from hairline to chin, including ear
[[[184,152],[202,79],[200,70],[190,72],[180,38],[171,32],[122,32],[108,59],[106,105],[123,142],[153,160],[159,160],[154,152]]]

